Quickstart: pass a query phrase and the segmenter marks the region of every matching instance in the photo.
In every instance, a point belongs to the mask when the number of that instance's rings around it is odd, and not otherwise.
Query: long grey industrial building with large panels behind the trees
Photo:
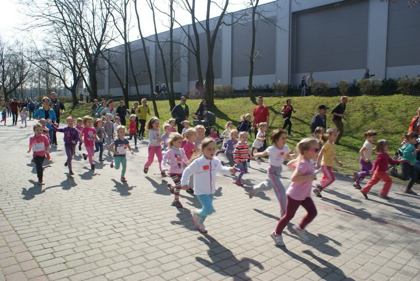
[[[276,19],[280,28],[258,23],[253,75],[254,85],[288,82],[297,85],[303,75],[314,71],[317,81],[330,81],[334,87],[341,79],[360,79],[365,68],[375,78],[398,78],[420,74],[420,6],[407,6],[407,0],[387,3],[380,0],[278,0],[260,6],[265,16]],[[238,13],[244,13],[239,11]],[[232,21],[227,18],[226,21]],[[185,29],[194,36],[191,25]],[[200,32],[200,31],[199,31]],[[169,32],[160,33],[167,40]],[[175,41],[189,45],[183,31],[174,31]],[[148,37],[154,39],[154,35]],[[207,42],[200,33],[203,75],[207,67]],[[222,26],[213,55],[214,84],[234,85],[247,89],[251,24]],[[133,67],[140,93],[150,92],[141,41],[130,43]],[[147,41],[147,53],[153,70],[154,84],[164,81],[163,67],[156,44]],[[169,44],[163,45],[169,61]],[[124,64],[122,46],[108,50],[113,65]],[[193,91],[197,77],[195,57],[187,48],[174,44],[174,91]],[[169,73],[169,72],[168,72]],[[203,77],[205,79],[205,77]],[[115,74],[98,71],[98,92],[122,96]],[[130,77],[130,95],[136,93]]]

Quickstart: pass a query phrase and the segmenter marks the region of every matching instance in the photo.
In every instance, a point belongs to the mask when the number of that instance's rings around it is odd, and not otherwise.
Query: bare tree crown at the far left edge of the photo
[[[27,61],[27,57],[22,43],[15,41],[9,44],[0,37],[0,89],[4,99],[15,93],[28,78],[31,63]]]

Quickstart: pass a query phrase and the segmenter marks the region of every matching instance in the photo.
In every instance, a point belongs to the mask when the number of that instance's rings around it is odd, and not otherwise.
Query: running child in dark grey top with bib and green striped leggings
[[[122,166],[121,169],[121,181],[127,182],[125,178],[125,171],[127,169],[127,148],[131,154],[134,154],[133,150],[131,149],[130,142],[125,138],[125,131],[126,128],[123,125],[119,125],[117,127],[117,138],[109,145],[112,153],[114,153],[114,159],[111,162],[109,167],[114,168],[116,170],[120,169],[120,165]],[[115,165],[114,165],[115,162]]]

